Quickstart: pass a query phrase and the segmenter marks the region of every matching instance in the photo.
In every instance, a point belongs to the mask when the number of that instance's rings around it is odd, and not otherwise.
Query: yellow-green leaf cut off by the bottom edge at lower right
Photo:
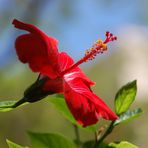
[[[138,148],[136,145],[127,141],[121,141],[120,143],[110,143],[107,148]]]

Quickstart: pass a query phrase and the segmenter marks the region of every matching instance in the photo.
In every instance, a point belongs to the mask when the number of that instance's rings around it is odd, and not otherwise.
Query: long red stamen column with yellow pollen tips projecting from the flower
[[[91,48],[86,50],[83,58],[81,58],[78,62],[72,64],[68,69],[62,71],[60,75],[63,76],[64,74],[68,73],[69,71],[71,71],[75,67],[79,66],[80,64],[94,59],[97,54],[103,53],[104,51],[107,50],[107,43],[114,41],[114,40],[117,40],[117,37],[114,36],[112,33],[108,32],[108,31],[106,32],[105,35],[106,35],[106,39],[104,41],[97,40],[92,45]]]

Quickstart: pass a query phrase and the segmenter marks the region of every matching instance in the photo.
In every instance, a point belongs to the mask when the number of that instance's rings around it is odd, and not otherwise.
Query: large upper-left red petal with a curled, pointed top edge
[[[57,40],[31,24],[18,20],[14,20],[13,24],[16,28],[30,32],[16,39],[15,48],[20,61],[28,63],[34,72],[55,78],[59,72]]]

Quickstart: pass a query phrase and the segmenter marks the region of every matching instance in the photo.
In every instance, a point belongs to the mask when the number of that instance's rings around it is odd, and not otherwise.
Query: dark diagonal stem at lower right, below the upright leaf
[[[113,124],[114,124],[114,121],[110,123],[109,127],[107,128],[106,132],[102,135],[102,137],[95,142],[95,145],[93,148],[98,148],[99,145],[102,143],[102,141],[112,132],[112,130],[114,129]]]

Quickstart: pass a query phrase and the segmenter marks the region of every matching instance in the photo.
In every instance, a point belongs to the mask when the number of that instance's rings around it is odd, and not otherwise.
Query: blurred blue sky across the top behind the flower
[[[28,11],[27,2],[30,1],[26,0],[26,3],[24,1],[23,4],[16,3],[15,0],[0,1],[0,19],[6,22],[6,27],[3,22],[0,23],[1,67],[16,58],[14,41],[17,35],[11,21],[13,18],[24,20],[25,11]],[[66,8],[66,4],[69,4],[70,7]],[[142,24],[139,21],[140,4],[138,0],[48,1],[39,10],[38,18],[35,18],[38,20],[36,25],[48,35],[57,38],[60,50],[68,52],[77,60],[83,56],[85,49],[89,48],[95,40],[104,38],[105,31],[109,30],[118,35],[118,29],[122,26]],[[63,7],[69,11],[69,16],[61,13]],[[17,33],[23,33],[23,31],[17,31]]]

